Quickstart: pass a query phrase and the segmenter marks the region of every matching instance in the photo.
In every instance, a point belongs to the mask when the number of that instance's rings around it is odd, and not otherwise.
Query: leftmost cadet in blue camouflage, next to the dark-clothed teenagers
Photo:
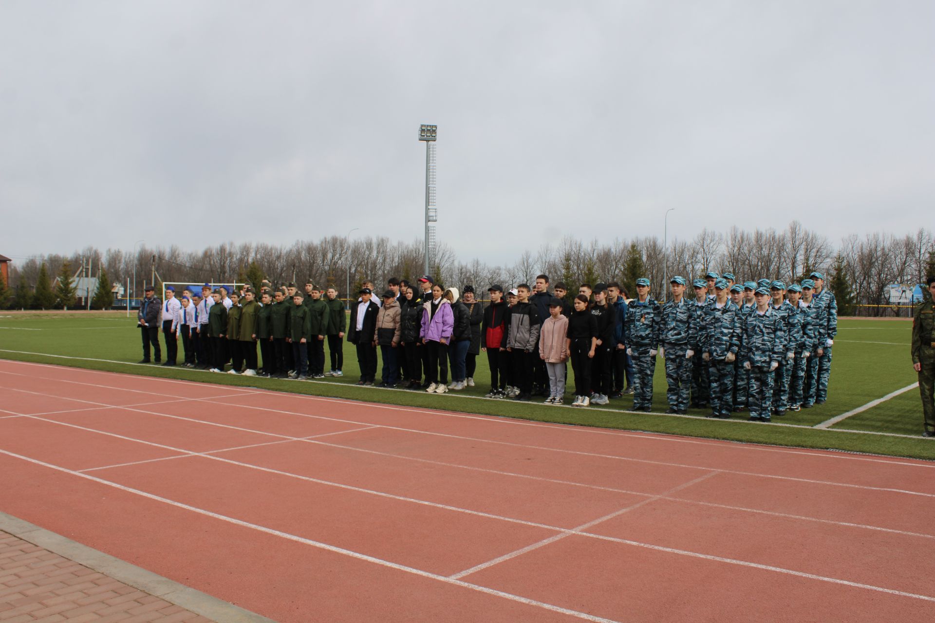
[[[637,279],[637,298],[626,309],[626,354],[633,361],[633,410],[653,410],[655,356],[662,335],[662,310],[649,295],[649,279]]]

